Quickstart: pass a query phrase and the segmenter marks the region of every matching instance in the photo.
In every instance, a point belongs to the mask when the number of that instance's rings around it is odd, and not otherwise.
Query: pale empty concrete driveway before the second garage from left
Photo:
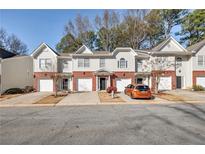
[[[99,103],[100,103],[100,100],[98,97],[98,93],[96,91],[78,92],[78,93],[68,94],[58,104],[56,104],[56,106],[61,106],[61,105],[96,105]]]

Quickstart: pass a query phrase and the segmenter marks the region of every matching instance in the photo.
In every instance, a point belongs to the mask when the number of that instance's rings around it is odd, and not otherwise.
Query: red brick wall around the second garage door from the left
[[[79,78],[92,78],[92,91],[96,91],[96,76],[91,71],[73,72],[73,91],[78,90]]]

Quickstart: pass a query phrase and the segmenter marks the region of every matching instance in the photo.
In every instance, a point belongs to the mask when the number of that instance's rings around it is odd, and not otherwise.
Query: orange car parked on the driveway
[[[125,87],[124,93],[129,95],[131,98],[152,98],[149,86],[144,84],[129,84],[127,87]]]

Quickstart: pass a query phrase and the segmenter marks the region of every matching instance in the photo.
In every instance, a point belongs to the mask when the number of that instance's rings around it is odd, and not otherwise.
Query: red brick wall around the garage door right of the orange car
[[[176,72],[175,71],[165,71],[164,72],[164,77],[172,77],[172,89],[176,89]],[[156,72],[152,72],[152,87],[151,90],[154,91],[155,86],[156,86],[156,82],[155,82],[155,78],[156,78]]]

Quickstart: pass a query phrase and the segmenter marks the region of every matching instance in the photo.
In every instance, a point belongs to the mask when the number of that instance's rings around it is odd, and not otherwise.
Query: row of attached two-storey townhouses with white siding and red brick
[[[205,87],[205,40],[185,49],[170,37],[151,50],[119,47],[113,52],[83,45],[72,54],[57,53],[42,43],[28,57],[33,65],[29,79],[37,91],[98,91],[109,86],[123,91],[130,83],[154,89],[157,70],[163,70],[160,90]]]

